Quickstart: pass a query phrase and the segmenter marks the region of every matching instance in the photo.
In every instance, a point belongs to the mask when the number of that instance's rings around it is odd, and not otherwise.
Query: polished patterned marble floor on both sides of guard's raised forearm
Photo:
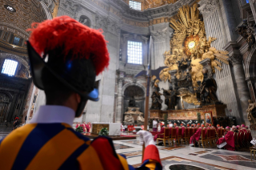
[[[139,140],[114,141],[116,152],[127,156],[128,164],[141,164],[142,147]],[[250,152],[230,152],[217,148],[191,148],[188,144],[157,146],[163,169],[256,169],[256,160],[250,160]]]

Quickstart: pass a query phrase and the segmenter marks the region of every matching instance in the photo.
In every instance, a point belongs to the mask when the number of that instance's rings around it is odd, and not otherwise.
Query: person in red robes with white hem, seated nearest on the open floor
[[[217,148],[226,148],[226,150],[234,151],[234,130],[235,126],[232,127],[230,131],[230,127],[226,127],[226,135],[217,140]]]

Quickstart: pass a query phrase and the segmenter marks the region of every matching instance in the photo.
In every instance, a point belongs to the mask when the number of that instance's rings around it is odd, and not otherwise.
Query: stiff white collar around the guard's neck
[[[70,107],[45,105],[40,106],[30,123],[67,123],[72,126],[75,111]]]

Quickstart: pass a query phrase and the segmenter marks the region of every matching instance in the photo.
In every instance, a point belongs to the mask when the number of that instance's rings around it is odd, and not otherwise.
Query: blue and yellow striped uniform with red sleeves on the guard
[[[89,140],[67,123],[30,123],[0,141],[0,169],[161,169],[158,149],[149,145],[140,168],[116,154],[112,140]]]

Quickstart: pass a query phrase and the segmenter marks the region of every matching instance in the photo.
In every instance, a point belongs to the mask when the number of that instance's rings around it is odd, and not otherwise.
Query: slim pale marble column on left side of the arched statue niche
[[[124,72],[120,72],[119,78],[117,79],[117,105],[116,105],[116,123],[123,122],[122,116],[122,88],[124,83]]]

